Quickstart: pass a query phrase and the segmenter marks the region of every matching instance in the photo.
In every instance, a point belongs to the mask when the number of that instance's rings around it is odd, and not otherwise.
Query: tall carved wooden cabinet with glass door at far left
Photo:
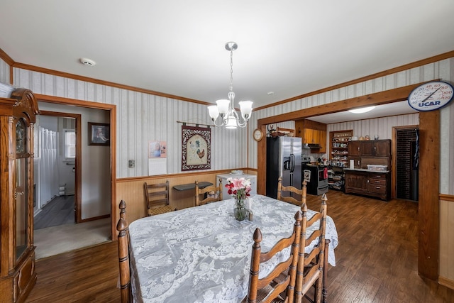
[[[24,302],[36,282],[33,246],[33,126],[27,89],[0,98],[0,302]]]

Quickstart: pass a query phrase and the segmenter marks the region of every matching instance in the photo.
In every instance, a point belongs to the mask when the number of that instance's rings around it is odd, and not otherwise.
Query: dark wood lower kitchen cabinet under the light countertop
[[[345,169],[345,194],[363,194],[384,201],[390,196],[390,173]]]

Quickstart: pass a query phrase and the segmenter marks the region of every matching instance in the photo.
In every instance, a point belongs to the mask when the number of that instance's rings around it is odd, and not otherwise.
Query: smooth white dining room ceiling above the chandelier
[[[2,0],[0,48],[14,62],[214,103],[227,99],[224,45],[235,41],[236,101],[258,108],[452,51],[453,11],[453,0]]]

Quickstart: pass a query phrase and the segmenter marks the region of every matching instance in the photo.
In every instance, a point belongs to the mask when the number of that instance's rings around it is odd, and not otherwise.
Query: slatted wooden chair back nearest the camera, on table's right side
[[[299,237],[301,236],[301,211],[297,211],[294,218],[292,236],[280,239],[267,253],[261,252],[262,233],[260,228],[255,229],[246,302],[293,302],[294,286],[297,278]],[[260,263],[267,262],[284,248],[290,248],[289,258],[277,264],[266,277],[259,279]],[[285,295],[281,297],[283,292],[285,292]]]

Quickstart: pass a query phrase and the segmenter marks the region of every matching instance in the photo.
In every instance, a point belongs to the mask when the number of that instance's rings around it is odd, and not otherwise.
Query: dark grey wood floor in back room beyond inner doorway
[[[74,195],[55,197],[34,216],[33,228],[74,224]]]

